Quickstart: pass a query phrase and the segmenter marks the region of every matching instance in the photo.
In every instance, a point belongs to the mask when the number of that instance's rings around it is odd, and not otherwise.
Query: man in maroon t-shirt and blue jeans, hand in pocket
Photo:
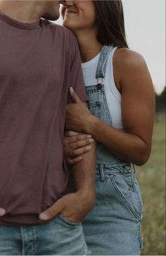
[[[73,166],[67,194],[68,89],[87,95],[75,37],[47,21],[58,16],[59,1],[0,1],[0,255],[87,254],[95,146]]]

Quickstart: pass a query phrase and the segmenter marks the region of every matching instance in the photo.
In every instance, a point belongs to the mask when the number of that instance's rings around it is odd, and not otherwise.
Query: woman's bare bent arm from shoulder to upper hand
[[[66,125],[68,129],[91,134],[118,158],[142,165],[151,153],[155,114],[153,83],[146,62],[136,52],[117,50],[114,66],[115,83],[122,95],[124,132],[98,120],[79,104],[68,106]],[[71,91],[71,94],[75,97],[75,93]]]

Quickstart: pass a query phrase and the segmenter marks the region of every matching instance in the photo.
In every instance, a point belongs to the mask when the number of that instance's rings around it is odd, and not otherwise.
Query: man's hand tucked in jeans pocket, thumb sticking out
[[[41,221],[48,221],[58,214],[72,222],[82,222],[95,203],[95,194],[75,192],[58,199],[49,209],[39,215]]]

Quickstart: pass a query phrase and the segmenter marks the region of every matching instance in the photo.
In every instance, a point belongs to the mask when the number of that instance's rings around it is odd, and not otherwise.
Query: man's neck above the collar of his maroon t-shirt
[[[21,23],[34,23],[41,18],[41,1],[0,1],[0,11]]]

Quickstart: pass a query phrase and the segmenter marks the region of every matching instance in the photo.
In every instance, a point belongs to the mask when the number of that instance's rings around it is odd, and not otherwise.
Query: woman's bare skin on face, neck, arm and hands
[[[63,25],[75,33],[79,42],[82,62],[88,62],[101,50],[96,39],[96,25],[87,17],[94,11],[93,1],[66,1],[63,8]],[[91,11],[87,11],[87,10]],[[75,14],[65,14],[75,12]],[[84,21],[84,23],[83,23]],[[83,23],[81,25],[81,23]],[[86,40],[88,38],[88,40]],[[99,47],[100,45],[100,47]],[[122,122],[124,131],[115,129],[102,122],[83,107],[81,103],[68,105],[66,114],[66,128],[75,132],[91,134],[98,142],[123,161],[136,165],[143,165],[148,161],[151,153],[151,139],[155,116],[155,94],[153,82],[148,67],[141,54],[126,48],[118,48],[113,56],[113,75],[117,90],[122,97]],[[77,97],[71,91],[72,98]],[[80,112],[82,115],[80,115]],[[72,136],[71,136],[72,135]],[[81,154],[85,147],[73,144],[77,135],[69,132],[68,159],[70,164],[75,163],[73,156]],[[72,144],[70,150],[70,144]],[[83,142],[82,142],[83,144]],[[84,141],[85,144],[85,141]],[[87,145],[87,144],[86,144]],[[79,151],[78,151],[79,148]],[[77,150],[77,153],[75,153]],[[70,153],[69,153],[70,151]],[[79,152],[79,153],[78,153]],[[83,158],[83,157],[82,157]],[[82,159],[75,158],[75,161]]]

